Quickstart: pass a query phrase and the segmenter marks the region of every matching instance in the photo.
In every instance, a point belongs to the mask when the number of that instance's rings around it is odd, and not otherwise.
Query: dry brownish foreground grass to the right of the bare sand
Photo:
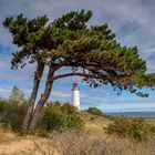
[[[54,142],[54,143],[53,143]],[[155,138],[137,143],[106,134],[53,133],[51,146],[60,155],[155,155]]]

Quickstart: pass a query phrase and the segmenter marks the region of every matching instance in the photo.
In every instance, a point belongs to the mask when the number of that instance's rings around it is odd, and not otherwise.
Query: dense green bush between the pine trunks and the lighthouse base
[[[49,104],[43,112],[43,124],[46,130],[82,130],[84,122],[69,104]]]

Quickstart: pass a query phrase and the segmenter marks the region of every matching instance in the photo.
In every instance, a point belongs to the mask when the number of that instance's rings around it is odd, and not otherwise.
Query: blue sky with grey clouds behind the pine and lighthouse
[[[12,86],[23,90],[30,96],[34,65],[23,70],[11,70],[11,53],[17,50],[12,44],[11,34],[3,28],[7,17],[23,13],[28,19],[46,14],[52,21],[69,11],[92,10],[93,17],[89,24],[107,23],[122,45],[137,45],[140,55],[147,62],[147,72],[155,72],[155,1],[154,0],[0,0],[0,96],[8,97]],[[41,82],[40,93],[44,90],[45,74]],[[54,83],[50,100],[70,102],[71,89],[75,78],[66,78]],[[96,106],[103,112],[155,112],[155,92],[148,97],[140,97],[128,92],[117,96],[108,85],[97,89],[79,81],[81,106]],[[38,99],[39,99],[38,96]]]

